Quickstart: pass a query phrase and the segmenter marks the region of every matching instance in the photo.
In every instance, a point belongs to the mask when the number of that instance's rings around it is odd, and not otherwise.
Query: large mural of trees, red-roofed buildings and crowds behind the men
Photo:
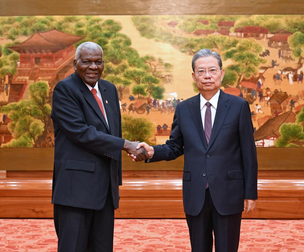
[[[123,137],[161,144],[175,107],[198,93],[191,60],[223,59],[222,90],[250,104],[257,147],[304,146],[304,16],[0,17],[0,146],[53,147],[57,82],[75,48],[104,50],[102,78],[116,85]]]

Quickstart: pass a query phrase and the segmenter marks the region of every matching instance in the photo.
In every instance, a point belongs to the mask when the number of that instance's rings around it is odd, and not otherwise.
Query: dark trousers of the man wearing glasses
[[[202,211],[197,216],[186,214],[192,252],[212,252],[214,232],[216,252],[237,252],[242,213],[220,215],[212,202],[209,188]]]

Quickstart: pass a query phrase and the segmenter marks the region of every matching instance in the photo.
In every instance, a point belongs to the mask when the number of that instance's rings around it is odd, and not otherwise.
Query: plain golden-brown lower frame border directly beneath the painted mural
[[[304,170],[304,148],[257,148],[259,170]],[[18,153],[18,158],[16,158]],[[173,161],[145,164],[133,162],[122,152],[124,171],[178,171],[183,169],[184,157]],[[52,171],[54,148],[0,148],[0,170]]]

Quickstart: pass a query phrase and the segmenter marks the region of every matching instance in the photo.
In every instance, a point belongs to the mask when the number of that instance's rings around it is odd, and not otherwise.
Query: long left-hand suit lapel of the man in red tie
[[[97,101],[95,100],[94,96],[92,95],[91,91],[88,89],[88,87],[85,85],[85,83],[79,78],[78,74],[75,72],[72,75],[74,81],[78,85],[79,89],[82,91],[82,95],[84,98],[87,100],[87,102],[92,106],[92,108],[95,110],[96,114],[99,116],[99,118],[102,120],[104,123],[105,127],[109,131],[109,127],[107,125],[107,122],[105,121],[105,117],[103,116]],[[99,86],[98,86],[99,88]]]

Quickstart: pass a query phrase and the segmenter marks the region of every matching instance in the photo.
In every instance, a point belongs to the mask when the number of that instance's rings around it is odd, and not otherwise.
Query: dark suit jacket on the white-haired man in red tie
[[[124,144],[119,99],[116,87],[108,81],[99,80],[98,89],[109,127],[94,96],[76,72],[54,88],[52,203],[102,209],[110,183],[114,207],[119,206]]]

